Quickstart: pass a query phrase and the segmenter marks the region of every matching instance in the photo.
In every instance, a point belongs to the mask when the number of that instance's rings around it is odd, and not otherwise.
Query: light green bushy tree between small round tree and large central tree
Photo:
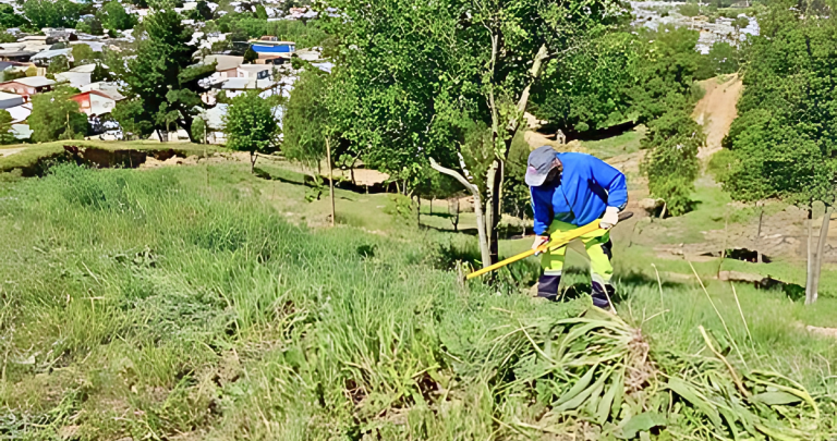
[[[316,70],[305,70],[291,90],[282,119],[286,158],[314,167],[326,158],[326,137],[331,136],[331,115],[326,106],[327,78]],[[330,139],[332,144],[335,139]],[[337,146],[335,146],[337,147]],[[332,157],[339,157],[335,148]]]

